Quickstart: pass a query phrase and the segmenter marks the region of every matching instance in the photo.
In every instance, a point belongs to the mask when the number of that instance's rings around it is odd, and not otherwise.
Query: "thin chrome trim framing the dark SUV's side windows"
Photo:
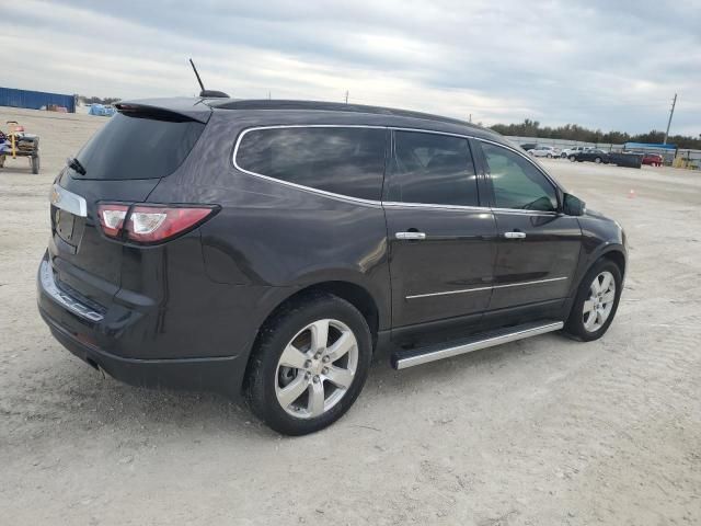
[[[543,174],[543,176],[550,182],[550,184],[552,184],[555,187],[555,192],[558,190],[562,190],[560,188],[560,186],[558,185],[558,183],[555,183],[552,178],[550,178],[550,175],[548,175],[548,173],[545,173],[543,171],[543,169],[541,167],[539,167],[532,159],[530,159],[528,157],[528,155],[525,155],[524,152],[518,151],[516,148],[509,146],[509,145],[504,145],[502,142],[497,142],[494,140],[490,140],[490,139],[484,139],[481,137],[475,137],[473,135],[466,135],[466,134],[456,134],[456,133],[451,133],[451,132],[438,132],[438,130],[434,130],[434,129],[425,129],[425,128],[406,128],[406,127],[400,127],[400,126],[380,126],[380,125],[370,125],[370,124],[277,124],[277,125],[265,125],[265,126],[252,126],[250,128],[244,128],[238,136],[235,145],[233,147],[233,153],[232,153],[232,162],[233,162],[233,167],[239,170],[240,172],[246,173],[249,175],[254,175],[256,178],[261,178],[264,179],[266,181],[272,181],[274,183],[279,183],[279,184],[284,184],[286,186],[290,186],[297,190],[301,190],[308,193],[313,193],[313,194],[318,194],[318,195],[323,195],[325,197],[331,197],[333,199],[336,201],[343,201],[343,202],[349,202],[349,203],[358,203],[358,204],[363,204],[363,205],[367,205],[367,206],[374,206],[374,207],[378,207],[378,206],[382,206],[382,205],[387,205],[390,207],[399,207],[399,206],[423,206],[423,207],[429,207],[429,208],[445,208],[445,209],[464,209],[464,210],[480,210],[480,211],[485,211],[485,210],[492,210],[492,211],[498,211],[498,213],[514,213],[514,214],[521,214],[521,215],[537,215],[537,216],[542,216],[542,215],[547,215],[547,216],[555,216],[558,215],[556,211],[543,211],[543,210],[526,210],[524,208],[494,208],[494,207],[490,207],[490,206],[462,206],[462,205],[443,205],[443,204],[438,204],[438,203],[399,203],[399,202],[382,202],[382,201],[376,201],[376,199],[363,199],[360,197],[353,197],[349,195],[344,195],[344,194],[336,194],[335,192],[326,192],[325,190],[319,190],[319,188],[313,188],[311,186],[306,186],[303,184],[297,184],[297,183],[290,183],[289,181],[283,181],[280,179],[275,179],[272,178],[269,175],[264,175],[262,173],[257,173],[257,172],[253,172],[250,170],[245,170],[243,168],[241,168],[239,165],[239,163],[237,162],[237,156],[239,153],[239,147],[241,146],[241,140],[243,140],[243,137],[245,137],[245,135],[249,132],[256,132],[256,130],[261,130],[261,129],[285,129],[285,128],[368,128],[368,129],[389,129],[392,132],[416,132],[420,134],[433,134],[433,135],[445,135],[445,136],[449,136],[449,137],[459,137],[459,138],[463,138],[463,139],[474,139],[474,140],[480,140],[482,142],[489,142],[491,145],[494,146],[499,146],[502,148],[505,148],[514,153],[516,153],[517,156],[520,156],[521,158],[526,159],[528,162],[530,162],[540,173]]]

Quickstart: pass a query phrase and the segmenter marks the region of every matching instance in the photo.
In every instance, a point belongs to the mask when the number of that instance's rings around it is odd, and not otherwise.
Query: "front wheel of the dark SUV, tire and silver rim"
[[[565,332],[585,342],[601,338],[616,316],[622,285],[618,265],[599,260],[579,285]]]

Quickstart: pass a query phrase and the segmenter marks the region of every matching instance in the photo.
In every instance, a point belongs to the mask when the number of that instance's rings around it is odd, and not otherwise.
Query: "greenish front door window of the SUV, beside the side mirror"
[[[527,159],[501,146],[482,142],[497,208],[554,211],[558,195],[548,179]]]

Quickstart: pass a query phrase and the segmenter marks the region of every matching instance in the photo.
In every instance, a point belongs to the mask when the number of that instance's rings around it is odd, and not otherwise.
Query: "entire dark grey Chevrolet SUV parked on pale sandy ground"
[[[374,356],[613,321],[623,230],[496,133],[325,102],[115,107],[53,185],[37,276],[54,336],[114,378],[242,395],[301,435],[353,405]]]

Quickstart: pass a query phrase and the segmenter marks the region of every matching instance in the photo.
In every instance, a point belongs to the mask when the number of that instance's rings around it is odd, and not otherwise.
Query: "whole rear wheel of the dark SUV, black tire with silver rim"
[[[273,430],[306,435],[338,420],[360,393],[372,344],[349,302],[318,294],[266,322],[248,378],[253,412]]]

